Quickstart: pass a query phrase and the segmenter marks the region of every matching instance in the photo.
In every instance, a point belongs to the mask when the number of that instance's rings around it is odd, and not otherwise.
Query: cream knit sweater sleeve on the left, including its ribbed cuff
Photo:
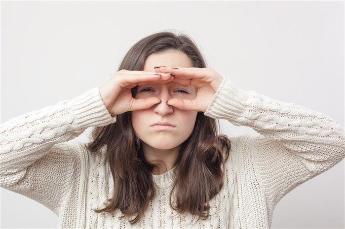
[[[25,113],[0,127],[0,187],[58,215],[67,190],[87,166],[75,141],[88,127],[116,121],[94,87],[70,100]],[[77,181],[79,182],[79,181]]]

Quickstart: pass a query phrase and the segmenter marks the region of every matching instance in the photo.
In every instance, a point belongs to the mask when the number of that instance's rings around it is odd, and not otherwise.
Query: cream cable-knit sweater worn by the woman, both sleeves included
[[[190,214],[179,216],[170,208],[172,168],[153,175],[157,196],[134,228],[270,228],[283,196],[345,157],[344,128],[335,120],[241,90],[225,77],[204,114],[251,127],[260,136],[230,137],[225,185],[210,202],[208,219],[192,224]],[[103,164],[105,151],[94,160],[74,140],[88,127],[115,121],[94,87],[1,124],[0,187],[45,205],[59,217],[59,228],[131,228],[118,211],[93,212],[113,196],[112,175]]]

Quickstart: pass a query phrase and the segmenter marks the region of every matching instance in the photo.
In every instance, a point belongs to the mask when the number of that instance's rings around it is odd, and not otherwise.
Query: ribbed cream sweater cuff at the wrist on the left
[[[99,90],[99,87],[94,87],[68,101],[70,109],[74,112],[74,126],[88,128],[107,126],[116,122],[116,115],[111,116]]]

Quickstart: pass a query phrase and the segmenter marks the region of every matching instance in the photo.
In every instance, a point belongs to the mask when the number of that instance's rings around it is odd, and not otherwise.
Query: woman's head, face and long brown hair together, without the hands
[[[154,71],[154,66],[206,67],[200,51],[186,34],[154,33],[135,43],[123,58],[118,70]],[[153,90],[142,90],[146,88]],[[182,91],[188,91],[184,94]],[[106,147],[114,180],[114,195],[106,207],[97,213],[120,210],[125,216],[136,215],[130,223],[137,223],[156,194],[152,170],[158,164],[147,160],[143,147],[172,149],[178,157],[172,185],[175,202],[170,206],[179,213],[208,217],[209,201],[223,187],[224,170],[221,165],[228,159],[230,140],[218,135],[216,120],[203,112],[178,110],[167,105],[169,98],[195,98],[196,88],[173,83],[144,85],[132,89],[133,98],[156,96],[161,99],[150,109],[117,115],[116,122],[96,127],[93,141],[86,147],[98,154]],[[174,130],[154,131],[150,125],[167,121],[176,125]],[[219,122],[218,122],[219,125]],[[125,194],[125,196],[123,195]],[[207,214],[205,214],[207,211]]]

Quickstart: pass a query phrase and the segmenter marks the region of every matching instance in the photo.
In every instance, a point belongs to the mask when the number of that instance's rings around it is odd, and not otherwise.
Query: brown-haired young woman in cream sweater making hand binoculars
[[[216,119],[260,136],[218,135]],[[0,143],[0,186],[59,228],[270,228],[283,196],[345,157],[334,119],[241,90],[168,32],[102,87],[3,123]]]

